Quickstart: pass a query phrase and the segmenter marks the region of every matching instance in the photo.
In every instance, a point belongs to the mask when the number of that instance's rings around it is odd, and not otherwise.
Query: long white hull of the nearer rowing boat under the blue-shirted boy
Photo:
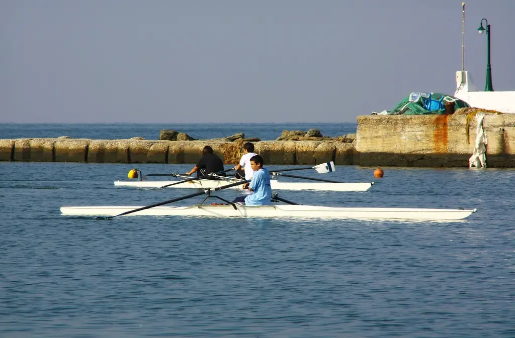
[[[115,216],[141,206],[70,206],[61,207],[64,215]],[[340,208],[312,205],[193,205],[158,206],[126,216],[211,216],[211,217],[281,217],[281,218],[350,218],[401,220],[460,220],[477,209],[416,209],[416,208]]]

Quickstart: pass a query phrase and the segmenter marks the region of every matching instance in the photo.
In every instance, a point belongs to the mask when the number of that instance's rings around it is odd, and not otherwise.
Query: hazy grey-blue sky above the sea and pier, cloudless
[[[515,1],[466,1],[465,69],[515,90]],[[454,0],[0,0],[1,122],[355,122],[452,95]]]

